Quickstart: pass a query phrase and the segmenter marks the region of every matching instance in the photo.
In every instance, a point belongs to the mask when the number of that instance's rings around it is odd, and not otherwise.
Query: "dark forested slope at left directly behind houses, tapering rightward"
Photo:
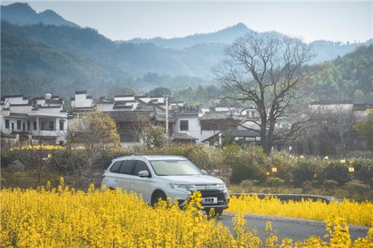
[[[108,72],[88,58],[42,41],[1,32],[1,93],[68,93],[96,88]]]

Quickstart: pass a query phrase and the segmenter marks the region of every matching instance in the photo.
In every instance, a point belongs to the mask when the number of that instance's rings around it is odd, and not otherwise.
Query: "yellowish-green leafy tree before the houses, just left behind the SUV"
[[[72,119],[68,147],[53,159],[75,188],[80,188],[91,181],[92,169],[107,165],[103,164],[105,155],[113,148],[120,148],[116,124],[106,113],[94,110]]]

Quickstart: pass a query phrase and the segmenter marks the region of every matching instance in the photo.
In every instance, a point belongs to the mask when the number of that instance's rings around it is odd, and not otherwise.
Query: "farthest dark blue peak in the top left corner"
[[[50,25],[67,25],[78,27],[73,22],[63,19],[61,15],[51,10],[46,10],[40,13],[34,11],[26,3],[15,3],[7,6],[1,6],[1,19],[18,25],[30,25],[43,22]]]

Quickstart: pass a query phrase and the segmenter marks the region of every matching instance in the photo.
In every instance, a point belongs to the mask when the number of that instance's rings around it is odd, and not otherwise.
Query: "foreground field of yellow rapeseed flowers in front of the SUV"
[[[373,229],[366,238],[351,242],[343,221],[331,221],[330,242],[310,237],[293,246],[290,239],[278,244],[270,223],[266,240],[246,225],[243,216],[234,219],[234,232],[198,210],[201,195],[182,210],[176,204],[159,202],[155,208],[137,195],[118,190],[87,192],[58,189],[1,190],[0,247],[372,247]]]

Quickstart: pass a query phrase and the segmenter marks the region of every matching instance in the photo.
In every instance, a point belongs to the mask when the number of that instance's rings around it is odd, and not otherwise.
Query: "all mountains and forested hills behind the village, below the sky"
[[[36,13],[27,4],[1,6],[1,18],[27,24],[1,20],[2,96],[45,92],[70,96],[81,89],[101,95],[115,89],[146,93],[161,86],[191,103],[216,104],[213,99],[224,91],[214,80],[212,68],[225,59],[225,48],[234,39],[255,32],[239,23],[217,32],[175,39],[112,41],[97,30],[71,24],[53,11],[44,12]],[[28,24],[34,22],[37,24]],[[309,100],[372,100],[372,40],[364,44],[310,44],[316,54],[313,62],[319,64],[304,67],[312,74]],[[213,88],[206,88],[208,85]]]

